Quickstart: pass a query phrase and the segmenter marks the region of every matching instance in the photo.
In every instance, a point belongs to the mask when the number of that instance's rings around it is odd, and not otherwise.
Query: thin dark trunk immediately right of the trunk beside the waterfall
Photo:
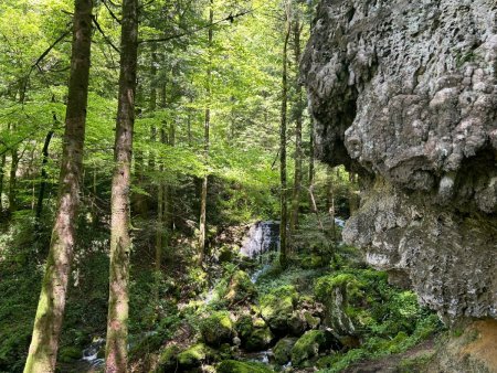
[[[300,63],[300,32],[302,26],[298,19],[298,15],[294,21],[294,44],[295,44],[295,65],[298,66]],[[298,74],[297,74],[298,75]],[[295,177],[294,177],[294,189],[292,193],[292,212],[290,212],[290,222],[289,222],[289,233],[290,237],[297,228],[298,224],[298,209],[300,206],[300,189],[302,189],[302,124],[303,124],[303,93],[302,85],[298,83],[298,78],[296,79],[296,90],[297,90],[297,110],[295,118]]]

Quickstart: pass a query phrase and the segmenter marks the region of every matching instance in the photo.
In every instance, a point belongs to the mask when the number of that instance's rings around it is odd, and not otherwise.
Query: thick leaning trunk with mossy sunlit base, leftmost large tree
[[[24,373],[55,371],[80,202],[88,96],[92,8],[92,0],[75,0],[59,204]]]

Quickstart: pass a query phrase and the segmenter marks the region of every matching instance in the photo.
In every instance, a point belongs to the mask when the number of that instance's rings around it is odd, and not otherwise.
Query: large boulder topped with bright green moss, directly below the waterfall
[[[260,299],[261,315],[272,330],[284,332],[297,301],[298,292],[294,286],[278,287]]]

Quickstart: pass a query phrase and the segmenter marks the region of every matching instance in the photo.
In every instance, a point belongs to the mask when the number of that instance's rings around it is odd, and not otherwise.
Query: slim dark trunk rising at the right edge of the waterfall
[[[285,40],[283,43],[283,74],[282,74],[282,122],[279,127],[279,179],[281,179],[281,219],[279,219],[279,264],[283,268],[288,265],[288,245],[286,242],[287,198],[286,198],[286,121],[288,106],[288,39],[290,20],[287,14]]]

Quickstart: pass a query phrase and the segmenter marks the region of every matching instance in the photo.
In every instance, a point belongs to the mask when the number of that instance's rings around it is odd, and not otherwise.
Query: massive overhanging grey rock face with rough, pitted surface
[[[497,2],[321,0],[318,157],[363,181],[348,243],[446,320],[497,318]]]

